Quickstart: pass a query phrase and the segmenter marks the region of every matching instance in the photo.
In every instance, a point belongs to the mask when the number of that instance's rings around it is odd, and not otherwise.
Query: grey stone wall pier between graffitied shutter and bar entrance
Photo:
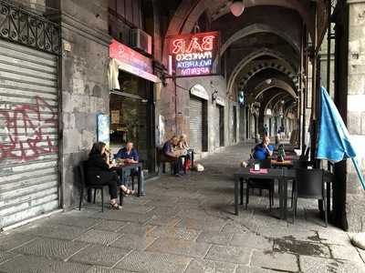
[[[97,140],[97,114],[109,114],[108,1],[50,0],[61,25],[59,58],[61,206],[78,202],[80,160]]]

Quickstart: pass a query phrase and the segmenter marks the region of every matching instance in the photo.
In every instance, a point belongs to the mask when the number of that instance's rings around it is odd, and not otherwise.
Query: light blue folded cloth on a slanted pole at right
[[[326,88],[321,87],[320,96],[321,115],[317,158],[327,159],[332,162],[351,158],[362,187],[365,189],[365,180],[359,162],[355,158],[355,149],[351,145],[349,131],[339,115],[339,110],[328,95]]]

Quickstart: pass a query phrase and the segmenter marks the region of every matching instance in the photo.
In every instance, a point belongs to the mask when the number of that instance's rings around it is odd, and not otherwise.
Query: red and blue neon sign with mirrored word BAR
[[[169,55],[175,76],[212,75],[214,59],[219,52],[218,32],[174,36]]]

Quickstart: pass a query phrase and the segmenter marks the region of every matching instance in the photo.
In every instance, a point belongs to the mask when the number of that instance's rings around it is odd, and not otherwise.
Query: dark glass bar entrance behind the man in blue
[[[155,166],[151,83],[123,71],[119,82],[120,91],[110,92],[110,149],[115,154],[127,141],[133,142],[143,169],[151,175]]]

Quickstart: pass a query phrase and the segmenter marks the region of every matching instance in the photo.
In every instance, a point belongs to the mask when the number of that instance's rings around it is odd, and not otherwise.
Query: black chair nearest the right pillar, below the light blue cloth
[[[323,200],[325,212],[325,224],[328,226],[326,183],[324,182],[322,169],[297,168],[294,190],[293,223],[297,214],[297,198]]]

